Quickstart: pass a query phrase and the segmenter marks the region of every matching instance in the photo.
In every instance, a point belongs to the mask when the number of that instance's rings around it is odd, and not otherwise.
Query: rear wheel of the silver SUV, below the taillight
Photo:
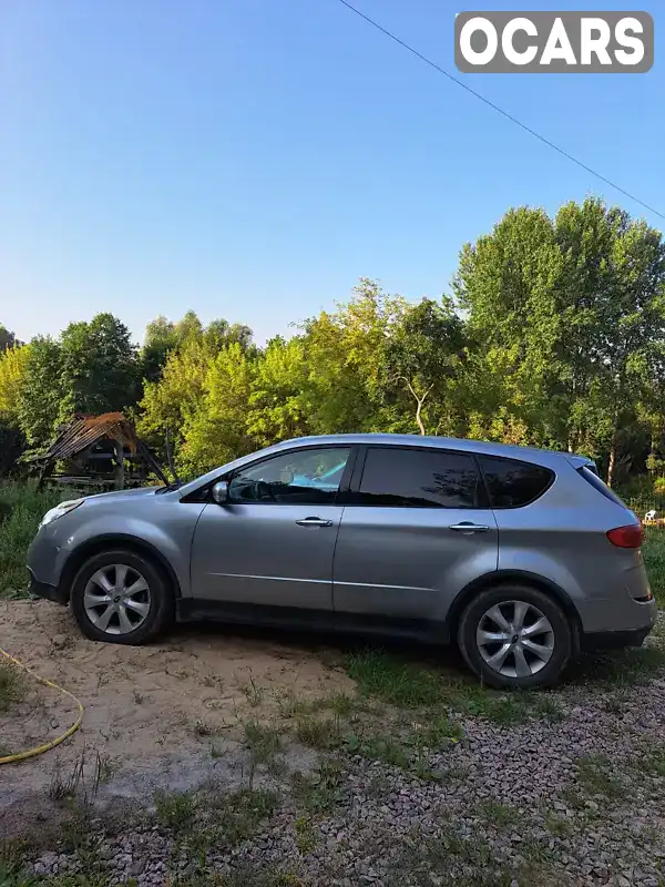
[[[488,686],[551,686],[573,654],[574,628],[549,594],[528,585],[500,585],[482,591],[466,608],[458,644],[469,667]]]

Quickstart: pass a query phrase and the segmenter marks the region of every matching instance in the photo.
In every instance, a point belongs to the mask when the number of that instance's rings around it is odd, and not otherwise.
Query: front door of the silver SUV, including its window
[[[194,597],[331,610],[336,499],[350,452],[289,450],[232,475],[228,503],[206,504],[196,527]]]

